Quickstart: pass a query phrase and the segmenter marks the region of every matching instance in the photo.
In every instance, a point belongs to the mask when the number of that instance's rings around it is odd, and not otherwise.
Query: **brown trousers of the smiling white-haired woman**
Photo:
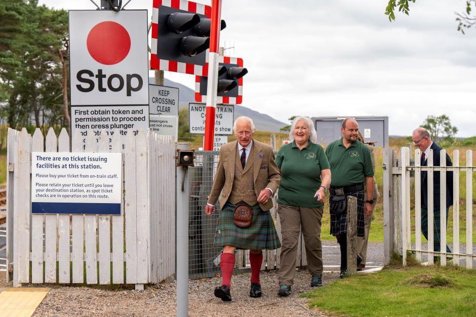
[[[312,275],[322,274],[321,219],[323,212],[324,207],[278,205],[277,213],[280,216],[282,234],[281,267],[278,273],[280,285],[293,285],[301,229],[306,248],[307,268]]]

